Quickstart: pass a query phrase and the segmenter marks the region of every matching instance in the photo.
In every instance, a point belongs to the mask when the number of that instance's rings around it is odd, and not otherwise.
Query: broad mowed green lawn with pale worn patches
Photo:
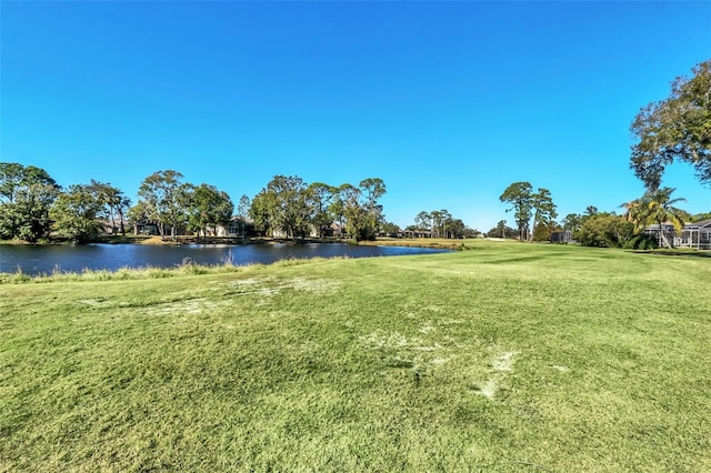
[[[711,471],[711,258],[467,245],[0,284],[0,471]]]

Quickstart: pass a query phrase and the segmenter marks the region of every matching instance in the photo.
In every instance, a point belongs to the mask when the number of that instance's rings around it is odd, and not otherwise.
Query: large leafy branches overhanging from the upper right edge
[[[701,182],[711,184],[711,60],[697,64],[691,78],[677,78],[669,98],[642,108],[631,125],[631,168],[655,190],[668,164],[688,162]]]

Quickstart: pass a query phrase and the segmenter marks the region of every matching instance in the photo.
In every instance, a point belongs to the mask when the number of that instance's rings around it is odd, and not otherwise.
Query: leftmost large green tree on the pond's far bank
[[[41,168],[0,162],[0,238],[36,242],[49,236],[49,211],[59,190]]]

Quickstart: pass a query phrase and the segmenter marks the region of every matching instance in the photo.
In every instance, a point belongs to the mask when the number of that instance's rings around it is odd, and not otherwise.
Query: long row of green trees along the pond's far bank
[[[43,169],[0,162],[0,239],[37,242],[52,234],[83,243],[94,241],[106,225],[111,233],[126,234],[127,222],[150,223],[166,239],[183,231],[200,239],[233,220],[242,223],[243,232],[251,219],[256,231],[270,236],[303,239],[311,229],[326,236],[338,223],[341,236],[369,240],[381,228],[393,227],[379,203],[384,193],[378,178],[334,187],[276,175],[253,199],[242,195],[236,208],[227,192],[194,185],[167,170],[147,177],[132,204],[110,183],[91,180],[63,189]]]

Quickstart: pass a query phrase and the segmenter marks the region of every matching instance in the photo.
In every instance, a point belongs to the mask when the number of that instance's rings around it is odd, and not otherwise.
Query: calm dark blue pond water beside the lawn
[[[357,246],[346,243],[306,244],[248,244],[248,245],[142,245],[142,244],[88,244],[88,245],[0,245],[0,272],[26,274],[52,271],[80,272],[83,269],[116,271],[121,268],[170,268],[190,259],[198,264],[236,265],[272,263],[284,259],[302,258],[368,258],[400,254],[441,253],[432,250],[404,246]]]

